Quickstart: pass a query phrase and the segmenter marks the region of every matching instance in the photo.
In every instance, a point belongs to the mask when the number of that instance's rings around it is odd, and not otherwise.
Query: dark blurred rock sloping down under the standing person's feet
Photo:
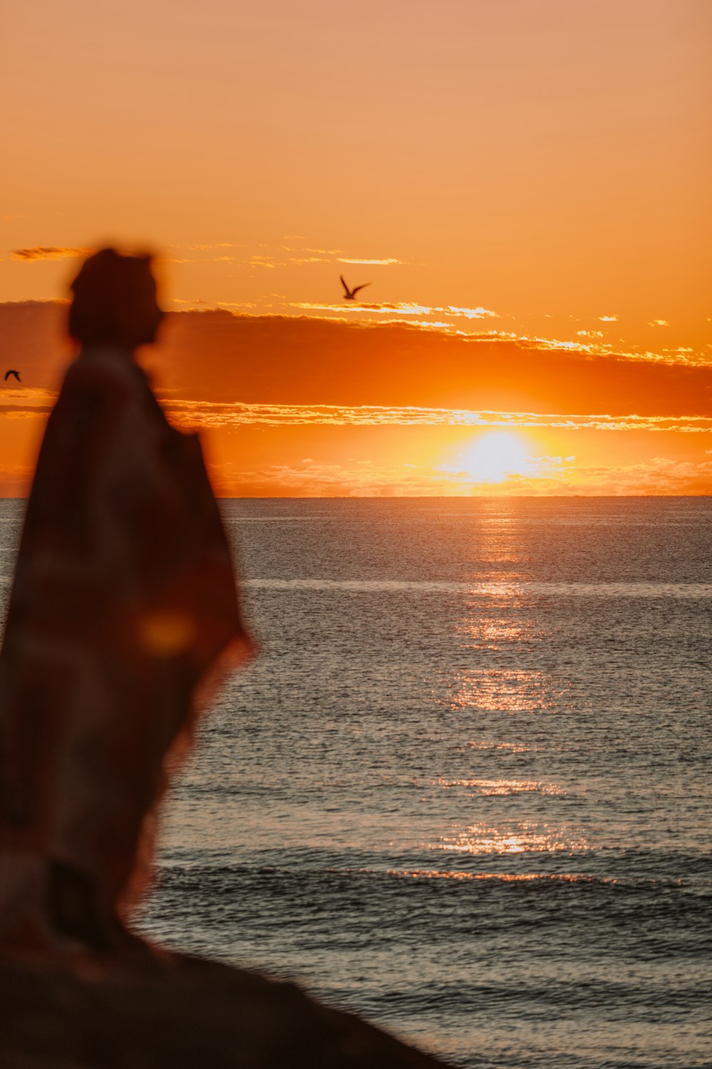
[[[152,970],[0,964],[2,1069],[437,1069],[291,983],[175,957]]]

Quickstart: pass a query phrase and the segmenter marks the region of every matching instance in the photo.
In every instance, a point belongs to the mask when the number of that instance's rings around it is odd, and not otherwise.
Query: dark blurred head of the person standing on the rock
[[[163,313],[149,255],[101,249],[84,261],[72,291],[68,329],[82,345],[133,350],[155,340]]]

